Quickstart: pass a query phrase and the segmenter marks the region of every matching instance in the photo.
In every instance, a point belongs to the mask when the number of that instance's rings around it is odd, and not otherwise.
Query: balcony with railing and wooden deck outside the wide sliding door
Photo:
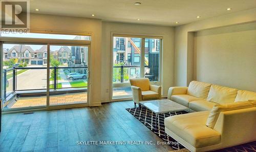
[[[87,70],[87,66],[50,67],[50,105],[87,102]],[[3,78],[4,109],[46,106],[47,67],[14,67],[3,71]]]

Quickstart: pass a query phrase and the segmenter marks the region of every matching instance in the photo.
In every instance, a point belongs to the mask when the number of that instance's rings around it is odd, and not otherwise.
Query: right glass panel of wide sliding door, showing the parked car
[[[50,45],[50,50],[55,50],[49,62],[50,106],[87,103],[89,49],[89,46]]]

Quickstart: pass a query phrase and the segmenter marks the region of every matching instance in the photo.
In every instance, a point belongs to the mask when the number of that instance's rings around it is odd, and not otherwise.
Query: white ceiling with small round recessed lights
[[[140,2],[141,5],[134,5]],[[256,0],[31,0],[31,12],[124,23],[177,26],[256,8]],[[227,8],[232,10],[227,11]],[[40,11],[35,11],[40,9]],[[91,16],[95,14],[95,16]],[[201,16],[197,18],[196,16]],[[140,20],[137,20],[137,19]]]

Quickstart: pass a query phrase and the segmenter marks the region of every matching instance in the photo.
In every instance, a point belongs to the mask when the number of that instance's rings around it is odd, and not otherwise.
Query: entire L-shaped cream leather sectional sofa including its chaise
[[[168,99],[198,111],[164,119],[165,132],[190,151],[209,151],[256,140],[254,92],[192,81],[188,88],[171,87]]]

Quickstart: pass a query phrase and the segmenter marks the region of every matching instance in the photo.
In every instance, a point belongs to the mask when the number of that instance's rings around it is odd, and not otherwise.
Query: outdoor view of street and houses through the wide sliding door
[[[50,46],[50,105],[87,102],[88,49]],[[46,106],[47,46],[4,44],[3,51],[4,108]]]

